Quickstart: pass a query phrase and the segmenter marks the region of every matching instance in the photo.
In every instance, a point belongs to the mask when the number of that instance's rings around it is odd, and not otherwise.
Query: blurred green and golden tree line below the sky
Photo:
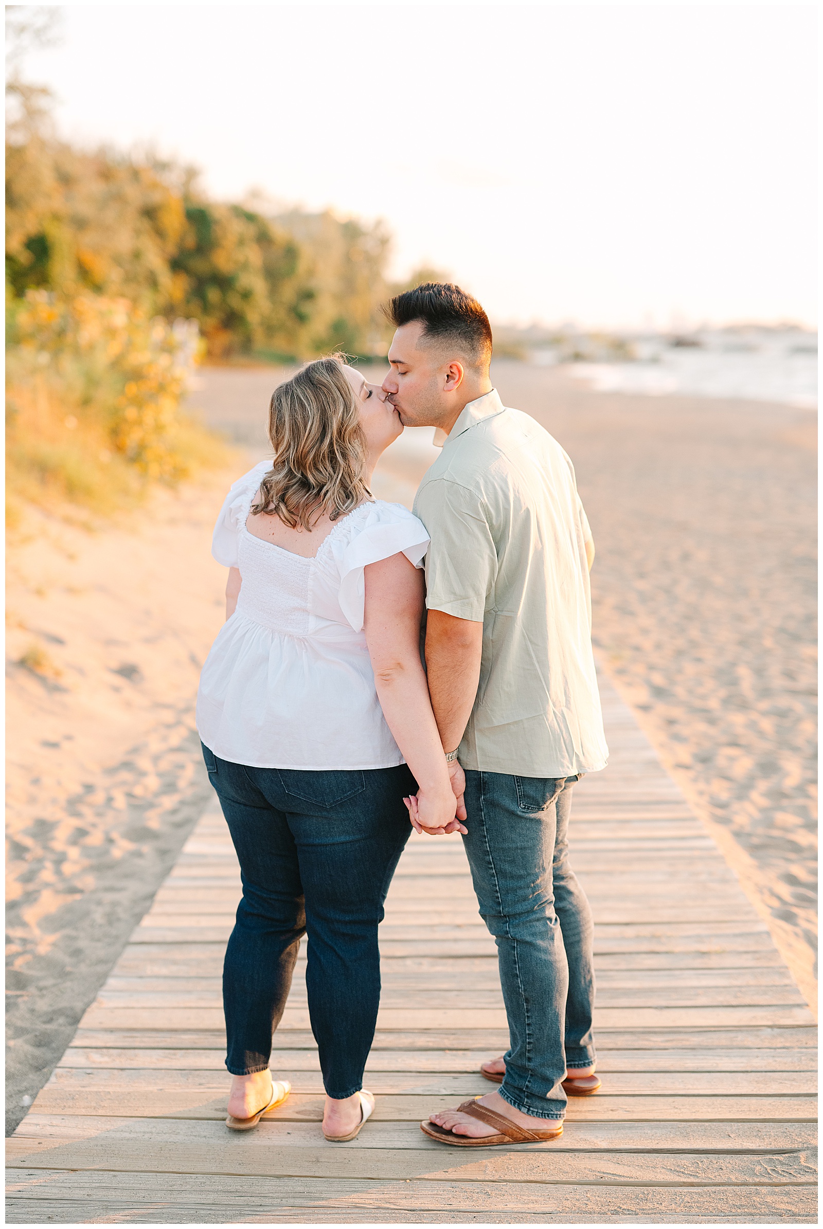
[[[22,100],[6,143],[6,294],[128,299],[198,322],[212,359],[385,353],[390,235],[330,210],[217,202],[157,157],[60,140]],[[422,274],[421,274],[422,277]],[[421,277],[412,279],[413,284]]]

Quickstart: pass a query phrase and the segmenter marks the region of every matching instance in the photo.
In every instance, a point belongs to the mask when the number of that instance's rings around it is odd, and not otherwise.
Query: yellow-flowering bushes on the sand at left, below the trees
[[[18,503],[111,512],[146,483],[220,463],[225,449],[180,412],[198,348],[191,321],[149,320],[127,299],[28,291],[12,305],[7,485]]]

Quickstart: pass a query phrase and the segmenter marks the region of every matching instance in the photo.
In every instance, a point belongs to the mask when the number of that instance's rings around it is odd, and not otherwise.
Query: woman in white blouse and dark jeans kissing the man
[[[223,977],[235,1129],[289,1094],[268,1061],[308,933],[324,1133],[359,1132],[405,799],[419,788],[427,827],[463,830],[419,659],[428,535],[368,487],[401,431],[341,356],[308,364],[272,396],[273,465],[234,484],[214,530],[226,622],[197,725],[242,875]]]

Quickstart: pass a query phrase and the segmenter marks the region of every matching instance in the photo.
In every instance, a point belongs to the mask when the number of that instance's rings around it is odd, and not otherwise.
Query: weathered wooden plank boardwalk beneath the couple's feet
[[[384,993],[351,1144],[320,1132],[300,966],[273,1068],[294,1093],[223,1125],[220,967],[239,896],[212,807],[9,1141],[12,1223],[813,1222],[812,1016],[765,925],[603,686],[611,764],[576,790],[594,908],[603,1090],[561,1139],[458,1152],[432,1109],[488,1091],[507,1046],[495,946],[459,838],[415,837],[381,928]]]

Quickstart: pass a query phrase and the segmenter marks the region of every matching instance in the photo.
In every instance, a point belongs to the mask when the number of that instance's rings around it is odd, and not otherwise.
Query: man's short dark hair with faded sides
[[[395,328],[418,320],[424,326],[424,338],[451,342],[476,366],[488,366],[492,356],[488,316],[476,299],[450,281],[426,281],[395,295],[386,316]]]

